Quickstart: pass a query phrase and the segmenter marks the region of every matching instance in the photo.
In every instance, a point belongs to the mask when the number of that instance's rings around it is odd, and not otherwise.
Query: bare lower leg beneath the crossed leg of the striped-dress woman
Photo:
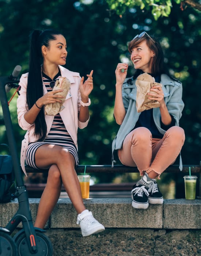
[[[46,187],[42,193],[38,206],[35,227],[44,228],[54,206],[56,205],[61,193],[61,173],[57,165],[52,165],[48,172]]]

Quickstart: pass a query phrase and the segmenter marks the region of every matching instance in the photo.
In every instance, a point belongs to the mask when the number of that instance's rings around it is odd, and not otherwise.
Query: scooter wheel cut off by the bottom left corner
[[[7,233],[0,231],[0,256],[17,256],[17,246],[14,239]]]

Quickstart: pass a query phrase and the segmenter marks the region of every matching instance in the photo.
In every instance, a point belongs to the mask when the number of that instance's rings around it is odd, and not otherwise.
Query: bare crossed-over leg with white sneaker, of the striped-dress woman
[[[35,153],[35,162],[42,169],[49,168],[53,164],[57,165],[65,190],[78,213],[77,224],[80,224],[83,236],[105,230],[105,227],[96,221],[84,206],[75,171],[75,159],[66,148],[52,144],[42,145]]]

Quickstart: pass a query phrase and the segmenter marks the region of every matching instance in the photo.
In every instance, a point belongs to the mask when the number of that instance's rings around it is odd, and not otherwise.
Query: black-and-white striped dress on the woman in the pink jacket
[[[52,82],[52,79],[49,78],[49,76],[42,73],[43,76],[43,83],[45,84],[45,87],[47,91],[52,91],[52,88],[50,87],[50,82]],[[58,74],[54,77],[53,81],[56,79],[59,79],[61,77],[60,71]],[[73,142],[71,136],[69,135],[68,131],[65,128],[65,125],[61,119],[60,114],[58,113],[56,116],[54,116],[54,120],[52,123],[52,127],[46,136],[46,139],[43,142],[34,142],[29,143],[29,146],[26,151],[26,164],[34,167],[36,169],[39,169],[35,164],[35,152],[37,148],[42,146],[43,144],[54,144],[59,145],[64,148],[67,148],[68,151],[73,155],[75,158],[75,164],[78,165],[79,159],[78,159],[78,153],[77,148],[75,146],[75,143]]]

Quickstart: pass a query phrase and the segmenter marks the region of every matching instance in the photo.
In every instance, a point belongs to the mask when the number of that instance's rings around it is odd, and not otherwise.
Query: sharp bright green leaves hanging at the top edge
[[[117,15],[122,16],[127,8],[140,7],[141,10],[151,10],[155,20],[160,16],[168,17],[172,7],[171,0],[106,0],[106,2],[109,9],[114,10]],[[181,0],[175,0],[175,2],[179,4]]]

